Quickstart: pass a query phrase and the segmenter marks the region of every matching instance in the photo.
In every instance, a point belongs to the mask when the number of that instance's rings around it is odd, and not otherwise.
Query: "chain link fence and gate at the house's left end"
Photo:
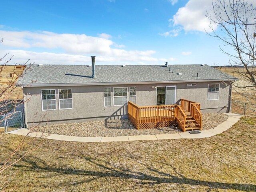
[[[0,127],[5,128],[5,132],[23,128],[23,117],[22,112],[10,112],[0,116]]]

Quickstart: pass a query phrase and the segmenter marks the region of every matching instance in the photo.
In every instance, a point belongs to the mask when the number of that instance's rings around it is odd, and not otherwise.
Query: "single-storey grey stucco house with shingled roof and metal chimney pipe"
[[[128,101],[138,106],[200,103],[202,113],[231,108],[232,80],[208,65],[33,65],[23,88],[27,126],[128,118]]]

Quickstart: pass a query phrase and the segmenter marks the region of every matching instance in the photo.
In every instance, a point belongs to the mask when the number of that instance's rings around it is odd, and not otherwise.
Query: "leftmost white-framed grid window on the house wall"
[[[42,110],[56,110],[56,95],[54,89],[41,90]]]

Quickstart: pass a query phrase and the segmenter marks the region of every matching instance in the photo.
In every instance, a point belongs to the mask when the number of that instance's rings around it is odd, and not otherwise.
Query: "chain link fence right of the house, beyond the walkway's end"
[[[256,116],[256,104],[232,100],[231,112],[248,116]]]

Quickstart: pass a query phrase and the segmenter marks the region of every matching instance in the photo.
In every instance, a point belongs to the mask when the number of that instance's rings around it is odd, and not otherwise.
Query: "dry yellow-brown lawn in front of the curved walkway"
[[[0,134],[0,161],[20,138]],[[255,118],[204,139],[38,142],[42,146],[13,167],[18,172],[6,191],[256,190]]]

